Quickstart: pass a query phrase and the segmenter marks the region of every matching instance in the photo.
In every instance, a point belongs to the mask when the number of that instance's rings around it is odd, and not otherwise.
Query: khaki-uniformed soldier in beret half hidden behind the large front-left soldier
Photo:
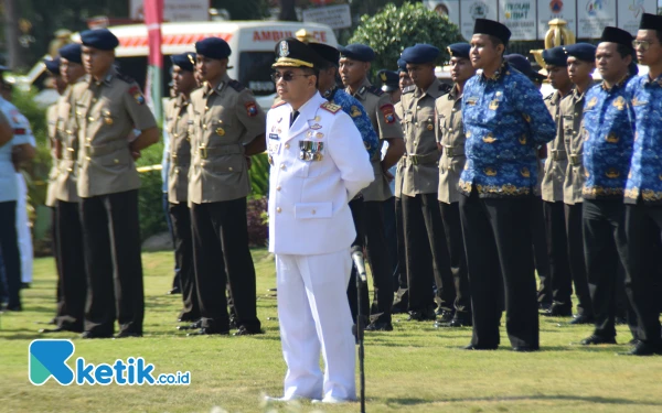
[[[78,180],[78,131],[75,109],[71,96],[74,87],[85,78],[82,47],[71,43],[58,51],[60,72],[66,89],[55,104],[53,139],[57,149],[57,175],[53,185],[55,197],[56,228],[54,244],[60,256],[58,291],[61,303],[55,318],[56,327],[41,329],[40,333],[84,330],[85,301],[87,295],[87,272],[85,271],[85,246],[81,226],[81,198],[76,188]]]

